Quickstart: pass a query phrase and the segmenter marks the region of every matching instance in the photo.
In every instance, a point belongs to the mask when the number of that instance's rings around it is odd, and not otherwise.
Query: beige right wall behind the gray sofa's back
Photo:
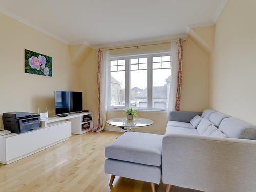
[[[216,24],[212,108],[256,124],[256,1],[228,1]]]

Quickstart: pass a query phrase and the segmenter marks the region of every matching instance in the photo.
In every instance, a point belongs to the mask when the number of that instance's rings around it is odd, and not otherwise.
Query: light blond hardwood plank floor
[[[150,183],[104,173],[104,150],[119,132],[72,135],[62,143],[9,165],[0,164],[0,191],[151,191]],[[33,143],[31,143],[33,144]],[[161,183],[158,192],[165,191]],[[172,192],[193,191],[173,187]]]

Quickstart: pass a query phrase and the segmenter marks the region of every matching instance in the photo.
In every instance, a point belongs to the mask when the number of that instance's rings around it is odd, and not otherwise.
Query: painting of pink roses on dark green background
[[[25,73],[52,76],[52,57],[25,49]]]

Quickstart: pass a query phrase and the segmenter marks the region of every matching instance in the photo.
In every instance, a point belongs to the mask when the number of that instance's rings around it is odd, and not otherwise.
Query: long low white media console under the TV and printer
[[[83,116],[90,115],[92,120],[83,122]],[[83,124],[90,123],[88,129]],[[21,134],[0,136],[0,163],[14,161],[68,140],[73,134],[83,134],[93,127],[93,113],[69,114],[67,117],[50,117],[40,121],[40,128]]]

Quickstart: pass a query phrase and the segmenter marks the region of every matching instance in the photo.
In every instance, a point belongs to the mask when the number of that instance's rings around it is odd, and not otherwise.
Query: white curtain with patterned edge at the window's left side
[[[107,87],[109,82],[109,50],[98,50],[98,126],[93,132],[102,132],[106,124],[106,108],[108,103]]]

